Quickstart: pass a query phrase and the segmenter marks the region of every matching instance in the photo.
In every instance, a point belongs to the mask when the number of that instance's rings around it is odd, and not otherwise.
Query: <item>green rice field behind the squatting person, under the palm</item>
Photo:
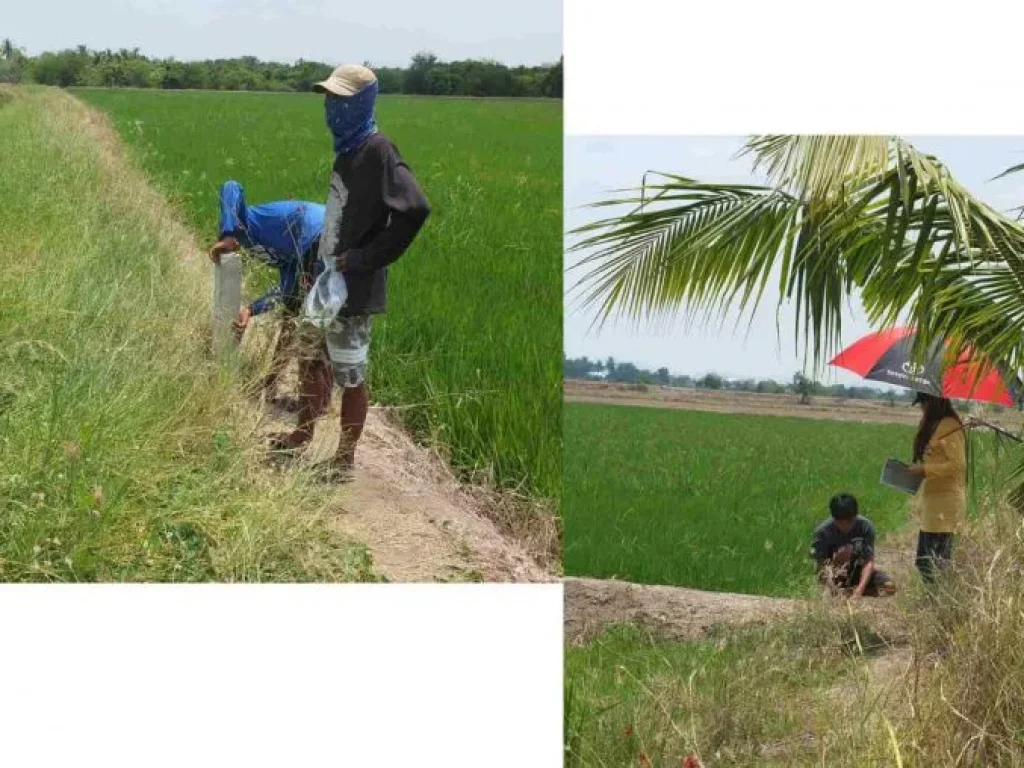
[[[798,595],[834,494],[880,538],[909,519],[879,475],[912,427],[572,402],[563,420],[566,574]]]

